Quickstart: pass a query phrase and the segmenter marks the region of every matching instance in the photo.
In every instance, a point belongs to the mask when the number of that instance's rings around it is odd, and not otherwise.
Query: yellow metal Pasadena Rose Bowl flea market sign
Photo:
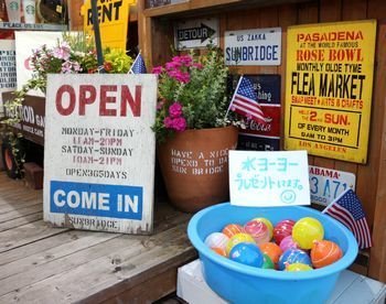
[[[376,21],[288,29],[285,149],[366,163]]]

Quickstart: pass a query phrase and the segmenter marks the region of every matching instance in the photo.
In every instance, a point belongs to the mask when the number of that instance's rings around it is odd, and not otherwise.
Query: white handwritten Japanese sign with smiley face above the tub
[[[230,204],[310,205],[307,151],[229,151]]]

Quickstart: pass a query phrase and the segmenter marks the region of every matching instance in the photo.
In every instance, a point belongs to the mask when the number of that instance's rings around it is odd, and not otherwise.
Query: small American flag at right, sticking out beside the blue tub
[[[373,246],[365,213],[353,189],[343,192],[322,213],[346,226],[354,234],[361,249]]]

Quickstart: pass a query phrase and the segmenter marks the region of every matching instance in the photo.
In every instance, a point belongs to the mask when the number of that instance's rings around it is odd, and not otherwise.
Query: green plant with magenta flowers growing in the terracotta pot
[[[211,47],[202,56],[175,56],[153,73],[159,74],[160,102],[152,129],[159,142],[185,129],[226,127],[237,121],[234,113],[225,117],[228,68],[219,48]]]

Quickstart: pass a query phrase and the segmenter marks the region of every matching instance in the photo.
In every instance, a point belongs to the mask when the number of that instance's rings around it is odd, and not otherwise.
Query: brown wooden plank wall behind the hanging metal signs
[[[287,28],[294,24],[323,23],[350,20],[377,20],[376,57],[374,68],[373,106],[367,164],[356,164],[320,156],[309,156],[309,163],[351,172],[356,175],[356,193],[364,204],[367,220],[373,231],[374,247],[365,252],[369,256],[368,275],[386,282],[386,1],[385,0],[319,0],[301,3],[255,7],[248,2],[239,7],[223,7],[222,11],[183,12],[154,15],[144,10],[139,14],[140,45],[148,63],[163,64],[170,58],[173,42],[172,23],[189,17],[218,17],[221,20],[221,46],[224,31],[280,26],[282,30],[282,64],[274,66],[242,66],[238,74],[281,75],[281,134],[283,138],[283,110],[286,85]],[[256,1],[258,2],[258,1]],[[287,1],[282,1],[287,2]],[[139,1],[139,11],[143,1]],[[172,9],[171,9],[172,10]],[[170,13],[170,12],[169,12]]]

